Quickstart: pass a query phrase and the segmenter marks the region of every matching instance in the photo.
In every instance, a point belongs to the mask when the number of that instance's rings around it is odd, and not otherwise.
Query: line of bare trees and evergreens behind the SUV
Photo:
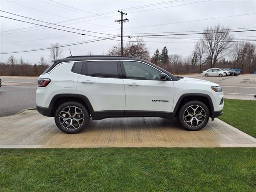
[[[217,25],[204,29],[202,37],[196,42],[189,56],[169,54],[166,46],[161,52],[156,49],[153,56],[150,56],[142,38],[124,44],[123,55],[148,60],[174,74],[199,73],[207,68],[240,68],[244,73],[253,73],[256,71],[256,45],[234,41],[230,28]],[[120,44],[110,48],[106,54],[121,55]],[[92,53],[88,52],[88,55]],[[50,59],[58,58],[63,58],[62,48],[58,43],[51,44]],[[32,65],[24,62],[22,57],[17,60],[10,56],[7,62],[0,62],[0,75],[38,76],[49,64],[44,57]]]

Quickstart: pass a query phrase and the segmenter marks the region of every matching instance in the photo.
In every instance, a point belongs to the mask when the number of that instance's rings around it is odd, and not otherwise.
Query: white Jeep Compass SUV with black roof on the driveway
[[[54,60],[38,78],[37,110],[55,117],[66,133],[89,119],[177,117],[186,130],[200,130],[223,114],[218,84],[174,76],[136,57],[70,56]]]

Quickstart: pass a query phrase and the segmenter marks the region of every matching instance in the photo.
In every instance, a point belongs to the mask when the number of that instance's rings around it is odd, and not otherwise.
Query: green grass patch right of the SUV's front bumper
[[[256,138],[256,100],[224,100],[224,114],[220,120]]]

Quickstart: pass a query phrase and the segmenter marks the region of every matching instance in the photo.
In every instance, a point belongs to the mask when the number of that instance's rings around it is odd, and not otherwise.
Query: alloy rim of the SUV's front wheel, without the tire
[[[190,127],[198,127],[206,120],[206,112],[200,105],[191,105],[183,113],[184,122]]]

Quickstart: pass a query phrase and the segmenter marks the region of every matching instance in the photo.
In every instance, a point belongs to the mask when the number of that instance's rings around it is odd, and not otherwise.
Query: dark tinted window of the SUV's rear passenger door
[[[97,77],[118,77],[117,61],[88,61],[87,74]]]

